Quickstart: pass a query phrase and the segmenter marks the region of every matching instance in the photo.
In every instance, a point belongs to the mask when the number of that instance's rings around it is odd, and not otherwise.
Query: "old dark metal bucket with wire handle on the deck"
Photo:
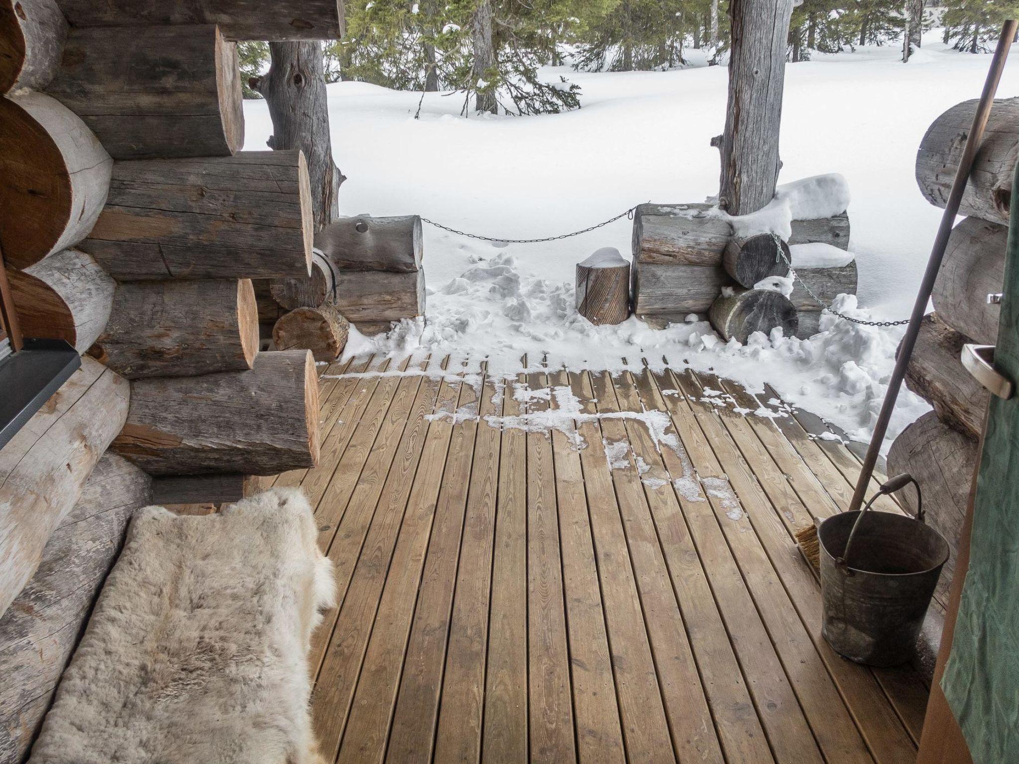
[[[915,481],[893,478],[862,511],[827,517],[817,528],[821,558],[822,634],[857,663],[894,666],[913,648],[949,558],[949,544],[916,519],[868,511],[877,496]],[[919,494],[919,486],[917,486]]]

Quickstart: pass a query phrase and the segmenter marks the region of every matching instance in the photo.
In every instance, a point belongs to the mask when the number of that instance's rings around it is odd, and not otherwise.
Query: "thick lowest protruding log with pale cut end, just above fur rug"
[[[275,475],[318,463],[318,374],[307,350],[251,370],[131,383],[113,449],[150,475]]]

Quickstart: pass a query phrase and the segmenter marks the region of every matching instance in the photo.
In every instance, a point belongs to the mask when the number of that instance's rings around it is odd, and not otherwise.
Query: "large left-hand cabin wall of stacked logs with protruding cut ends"
[[[310,273],[308,171],[298,151],[235,154],[235,41],[341,24],[336,0],[0,0],[15,310],[26,336],[88,353],[0,449],[0,507],[17,507],[0,510],[4,761],[23,758],[150,476],[318,459],[314,361],[259,352],[252,284]]]

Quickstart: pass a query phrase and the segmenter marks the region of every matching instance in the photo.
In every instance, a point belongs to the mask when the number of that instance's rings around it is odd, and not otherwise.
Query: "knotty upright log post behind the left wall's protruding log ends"
[[[253,90],[269,105],[274,151],[301,149],[308,161],[315,229],[337,214],[337,192],[346,178],[332,161],[329,109],[326,103],[322,44],[316,41],[269,43],[272,65],[265,76],[252,77]]]

